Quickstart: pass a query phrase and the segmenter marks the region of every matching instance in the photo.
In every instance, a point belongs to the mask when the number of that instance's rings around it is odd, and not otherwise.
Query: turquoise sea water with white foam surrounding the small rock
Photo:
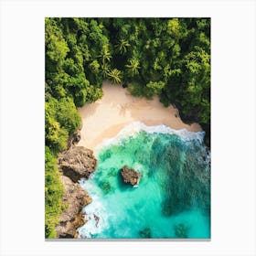
[[[92,203],[80,238],[209,239],[210,155],[204,133],[132,123],[101,144],[98,167],[80,185]],[[123,183],[123,165],[140,172]]]

